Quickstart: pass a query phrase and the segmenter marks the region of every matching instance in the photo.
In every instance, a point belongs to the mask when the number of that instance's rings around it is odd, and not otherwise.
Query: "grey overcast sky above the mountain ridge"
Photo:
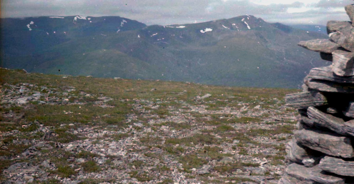
[[[1,0],[1,18],[121,16],[147,25],[183,24],[254,15],[267,22],[321,24],[349,20],[353,0]]]

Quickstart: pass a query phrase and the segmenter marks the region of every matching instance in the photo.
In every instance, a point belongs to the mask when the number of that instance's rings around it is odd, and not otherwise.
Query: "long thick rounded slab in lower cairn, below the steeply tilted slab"
[[[336,136],[322,131],[298,130],[294,133],[298,144],[327,155],[354,157],[354,148],[348,137]]]

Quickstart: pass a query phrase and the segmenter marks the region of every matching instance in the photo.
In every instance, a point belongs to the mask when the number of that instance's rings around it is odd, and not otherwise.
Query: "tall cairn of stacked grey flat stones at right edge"
[[[354,5],[345,10],[351,22],[329,21],[330,39],[298,44],[332,64],[311,69],[303,92],[285,97],[299,111],[298,130],[279,184],[354,184]]]

